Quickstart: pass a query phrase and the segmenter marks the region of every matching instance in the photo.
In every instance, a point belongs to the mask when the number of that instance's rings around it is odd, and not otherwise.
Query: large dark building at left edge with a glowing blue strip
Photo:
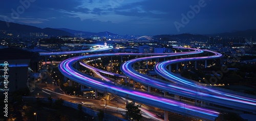
[[[30,71],[38,69],[37,57],[38,53],[23,49],[0,49],[0,82],[4,82],[4,72],[7,72],[9,92],[28,86]],[[4,64],[7,63],[8,70],[3,70]],[[4,88],[3,83],[0,84],[0,88]]]

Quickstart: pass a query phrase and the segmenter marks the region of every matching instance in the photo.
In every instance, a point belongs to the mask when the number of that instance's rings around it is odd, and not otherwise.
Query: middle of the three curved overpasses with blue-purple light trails
[[[213,52],[213,51],[208,51],[208,52]],[[222,56],[219,53],[216,53],[216,52],[213,52],[213,53],[215,53],[215,55],[206,56],[206,57],[181,58],[177,60],[179,60],[179,62],[184,62],[188,60],[197,61],[197,59],[200,60],[200,58],[215,59]],[[176,55],[184,55],[184,54],[176,54]],[[175,55],[172,55],[172,56],[175,56]],[[139,72],[135,71],[132,68],[132,65],[136,62],[144,61],[146,59],[160,58],[160,57],[163,58],[165,56],[153,56],[153,57],[143,57],[143,58],[133,59],[131,61],[125,62],[121,66],[121,70],[126,76],[136,80],[137,82],[140,82],[144,85],[148,85],[154,88],[158,88],[160,90],[163,90],[164,92],[168,92],[171,94],[184,96],[192,99],[199,99],[201,101],[206,101],[206,102],[210,102],[210,103],[214,103],[214,104],[218,104],[226,107],[242,109],[249,112],[255,112],[255,108],[256,108],[255,99],[251,99],[247,97],[236,97],[234,95],[227,95],[227,94],[222,95],[222,92],[218,92],[215,89],[212,89],[212,91],[203,92],[203,90],[205,89],[203,89],[202,86],[198,86],[198,85],[189,86],[184,84],[180,85],[179,81],[178,81],[179,82],[178,84],[168,83],[156,78],[152,78],[152,77],[148,77],[146,75],[140,74]],[[164,73],[164,74],[165,76],[168,75],[167,73]],[[209,89],[209,88],[206,88],[206,89]]]

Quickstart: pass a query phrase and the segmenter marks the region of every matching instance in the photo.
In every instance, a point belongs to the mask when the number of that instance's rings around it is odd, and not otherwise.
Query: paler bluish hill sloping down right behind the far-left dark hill
[[[66,32],[69,32],[71,34],[80,34],[82,36],[98,36],[98,37],[106,37],[107,35],[108,36],[117,36],[117,34],[113,34],[113,33],[110,33],[110,32],[92,33],[92,32],[76,31],[76,30],[72,30],[72,29],[68,29],[68,28],[55,28],[55,29],[66,31]]]

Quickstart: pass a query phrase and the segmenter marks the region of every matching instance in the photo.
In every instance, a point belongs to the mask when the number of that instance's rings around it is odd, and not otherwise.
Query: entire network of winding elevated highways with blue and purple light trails
[[[94,49],[94,50],[83,50],[83,51],[70,51],[70,52],[51,52],[51,53],[40,53],[41,56],[48,56],[48,55],[62,55],[62,54],[74,54],[74,53],[86,53],[86,52],[93,52],[93,51],[103,51],[108,50],[113,47],[106,47],[106,46],[100,46],[100,48]],[[191,48],[189,48],[191,49]],[[154,96],[150,93],[142,93],[141,90],[133,89],[130,87],[125,87],[123,85],[114,84],[113,82],[110,82],[110,80],[101,77],[103,80],[106,80],[106,82],[102,82],[101,79],[94,78],[88,75],[85,75],[77,70],[75,70],[72,65],[78,61],[81,61],[83,59],[89,59],[89,58],[99,58],[99,57],[105,57],[105,56],[139,56],[139,55],[148,55],[148,57],[142,57],[142,58],[136,58],[132,59],[130,61],[125,62],[122,67],[121,71],[125,74],[125,76],[130,77],[137,82],[140,82],[144,85],[148,85],[150,87],[154,87],[160,90],[163,90],[164,92],[169,92],[171,94],[184,96],[192,99],[198,99],[200,101],[210,102],[218,105],[224,105],[226,107],[232,107],[232,108],[238,108],[241,110],[246,110],[250,112],[255,112],[255,99],[239,96],[236,97],[236,95],[229,94],[228,92],[221,92],[220,89],[213,89],[210,87],[208,89],[208,86],[203,86],[203,84],[192,81],[184,81],[181,77],[176,77],[174,74],[172,76],[168,76],[172,74],[167,70],[167,66],[170,64],[180,63],[180,62],[187,62],[187,61],[200,61],[200,60],[206,60],[206,59],[216,59],[221,57],[221,54],[215,53],[215,55],[212,56],[204,56],[204,57],[193,57],[193,58],[181,58],[181,59],[175,59],[172,61],[165,61],[162,63],[159,63],[156,65],[155,70],[156,72],[166,78],[167,80],[170,80],[175,83],[166,82],[160,79],[148,77],[146,75],[140,74],[139,72],[135,71],[132,68],[132,65],[136,62],[140,61],[147,61],[150,59],[155,58],[167,58],[172,56],[184,56],[184,55],[190,55],[190,54],[198,54],[203,53],[202,50],[199,49],[193,49],[194,51],[189,52],[180,52],[180,53],[156,53],[156,54],[145,54],[145,53],[105,53],[105,54],[92,54],[92,55],[86,55],[86,56],[78,56],[66,59],[65,61],[61,62],[58,66],[60,72],[70,78],[73,81],[76,81],[82,85],[86,85],[98,90],[101,90],[102,92],[106,91],[109,93],[112,93],[114,95],[120,96],[120,97],[126,97],[130,100],[140,102],[146,105],[155,106],[161,109],[164,109],[166,111],[172,111],[179,114],[186,114],[190,117],[196,117],[201,118],[205,120],[214,120],[216,117],[218,117],[219,112],[214,110],[209,110],[202,107],[197,107],[193,105],[188,105],[183,102],[174,101],[171,99],[166,99],[163,97]],[[152,56],[149,56],[152,55]],[[88,61],[89,62],[89,61]],[[90,67],[89,65],[86,65],[82,62],[80,64],[84,67],[89,68],[92,71],[95,71],[98,75],[100,75],[99,72],[115,75],[119,77],[124,77],[119,74],[114,74],[106,71],[99,70],[94,67]],[[231,102],[231,103],[230,103]]]

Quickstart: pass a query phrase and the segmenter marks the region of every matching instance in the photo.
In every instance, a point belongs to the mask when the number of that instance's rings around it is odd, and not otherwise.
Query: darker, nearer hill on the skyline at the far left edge
[[[5,21],[0,21],[0,30],[16,33],[44,33],[48,36],[71,36],[71,33],[54,28],[42,29],[31,25],[24,25],[12,22],[10,22],[9,25],[10,26],[8,26]]]

